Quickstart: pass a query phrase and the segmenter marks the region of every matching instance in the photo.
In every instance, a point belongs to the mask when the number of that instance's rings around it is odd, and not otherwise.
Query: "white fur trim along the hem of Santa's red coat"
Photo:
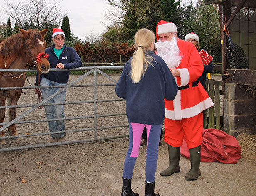
[[[177,97],[177,95],[176,95],[176,97]],[[179,110],[176,104],[178,104],[178,100],[177,100],[177,102],[175,102],[175,100],[173,101],[174,111],[167,110],[165,108],[165,117],[166,118],[169,118],[172,120],[181,120],[182,118],[190,118],[190,117],[198,115],[203,110],[206,110],[207,108],[214,106],[214,103],[212,102],[212,99],[210,97],[207,98],[206,100],[198,103],[197,105],[194,105],[191,108],[185,108],[183,110]]]

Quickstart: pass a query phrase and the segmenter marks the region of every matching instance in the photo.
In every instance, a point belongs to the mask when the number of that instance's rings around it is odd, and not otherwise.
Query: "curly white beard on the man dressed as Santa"
[[[155,43],[157,48],[157,54],[164,59],[169,68],[175,68],[179,66],[182,56],[180,56],[180,50],[177,45],[176,37],[173,37],[171,41],[160,41]]]

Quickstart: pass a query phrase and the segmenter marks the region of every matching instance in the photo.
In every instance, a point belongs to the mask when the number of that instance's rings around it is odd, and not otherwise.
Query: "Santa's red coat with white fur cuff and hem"
[[[179,87],[189,85],[189,88],[178,90],[173,101],[165,100],[165,117],[172,120],[193,117],[214,105],[200,82],[192,87],[192,82],[197,81],[204,71],[196,47],[181,39],[177,39],[177,44],[182,59],[180,65],[176,67],[180,71],[180,76],[175,80]]]

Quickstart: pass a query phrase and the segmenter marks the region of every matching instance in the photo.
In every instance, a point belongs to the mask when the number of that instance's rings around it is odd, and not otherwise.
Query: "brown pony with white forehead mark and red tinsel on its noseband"
[[[27,64],[35,67],[40,74],[49,73],[50,64],[47,61],[48,54],[44,53],[46,43],[44,36],[47,29],[42,31],[30,29],[28,31],[19,29],[20,33],[14,34],[0,43],[0,68],[1,69],[24,69]],[[25,73],[0,72],[0,87],[23,86],[26,80]],[[0,106],[17,105],[22,90],[1,90]],[[16,108],[9,108],[9,121],[16,118]],[[0,123],[4,121],[5,109],[0,109]],[[0,128],[2,125],[0,125]],[[10,135],[18,135],[16,125],[8,127]],[[0,132],[3,137],[4,130]],[[18,138],[16,138],[18,140]],[[0,140],[0,144],[6,144]]]

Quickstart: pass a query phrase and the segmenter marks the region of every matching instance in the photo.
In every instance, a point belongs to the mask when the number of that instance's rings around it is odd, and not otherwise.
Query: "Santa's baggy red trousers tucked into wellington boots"
[[[203,113],[182,120],[165,118],[165,139],[164,141],[172,147],[180,147],[183,138],[187,147],[195,148],[202,143]]]

